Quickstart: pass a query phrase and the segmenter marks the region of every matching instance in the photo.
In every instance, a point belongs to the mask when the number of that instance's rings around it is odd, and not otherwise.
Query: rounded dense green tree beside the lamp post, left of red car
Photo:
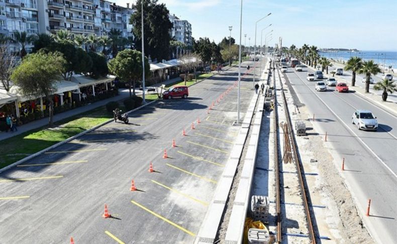
[[[124,83],[129,84],[130,98],[131,87],[135,96],[135,83],[142,79],[142,53],[137,50],[124,49],[120,51],[116,58],[109,61],[108,67],[111,73],[120,78]],[[145,76],[150,74],[150,64],[145,57]]]

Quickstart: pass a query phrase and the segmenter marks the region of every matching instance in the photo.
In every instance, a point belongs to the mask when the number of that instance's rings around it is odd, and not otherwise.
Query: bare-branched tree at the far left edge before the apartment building
[[[8,51],[8,48],[4,44],[0,44],[0,88],[10,91],[12,86],[11,74],[16,65],[16,57]]]

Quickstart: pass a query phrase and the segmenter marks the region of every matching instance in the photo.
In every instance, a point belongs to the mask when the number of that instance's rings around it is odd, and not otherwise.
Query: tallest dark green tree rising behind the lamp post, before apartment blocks
[[[135,48],[142,51],[142,23],[141,1],[143,1],[144,22],[144,46],[145,54],[152,59],[161,61],[169,57],[170,31],[172,23],[169,21],[169,11],[164,4],[158,4],[157,0],[138,0],[137,11],[131,16],[130,24],[134,26]]]

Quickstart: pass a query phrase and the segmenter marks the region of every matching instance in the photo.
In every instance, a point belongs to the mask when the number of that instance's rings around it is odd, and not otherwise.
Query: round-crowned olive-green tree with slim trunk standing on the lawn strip
[[[63,73],[65,59],[60,53],[38,52],[27,55],[15,68],[11,79],[28,97],[44,97],[49,103],[49,126],[53,125],[53,101],[56,82]]]

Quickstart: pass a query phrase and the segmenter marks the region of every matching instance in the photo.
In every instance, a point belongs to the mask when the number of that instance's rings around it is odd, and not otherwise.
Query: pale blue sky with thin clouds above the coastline
[[[112,1],[112,0],[111,0]],[[135,0],[113,0],[126,6]],[[220,42],[229,36],[240,38],[240,0],[159,0],[170,14],[192,25],[195,39],[208,37]],[[257,45],[266,34],[274,45],[282,37],[282,46],[315,45],[319,48],[356,48],[359,50],[397,51],[396,0],[243,0],[242,45]],[[263,32],[262,30],[266,28]],[[247,37],[244,38],[244,34]],[[251,40],[249,40],[251,38]]]

